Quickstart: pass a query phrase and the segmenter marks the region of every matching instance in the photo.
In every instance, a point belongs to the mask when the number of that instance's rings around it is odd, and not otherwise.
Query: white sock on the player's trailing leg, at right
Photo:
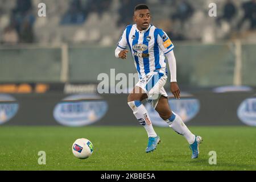
[[[187,139],[189,144],[195,142],[196,136],[191,133],[191,131],[187,128],[179,115],[174,113],[172,114],[171,118],[166,119],[165,121],[174,131],[176,131],[176,133],[183,135],[185,139]]]

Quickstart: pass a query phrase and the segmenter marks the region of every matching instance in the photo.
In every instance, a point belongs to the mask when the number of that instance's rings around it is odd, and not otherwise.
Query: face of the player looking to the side
[[[137,10],[134,12],[134,22],[137,24],[139,30],[146,30],[150,25],[150,19],[149,10]]]

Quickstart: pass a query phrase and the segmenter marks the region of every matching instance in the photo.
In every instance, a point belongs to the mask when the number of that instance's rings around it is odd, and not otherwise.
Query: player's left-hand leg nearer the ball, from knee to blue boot
[[[147,131],[148,144],[146,152],[151,152],[156,149],[156,145],[160,142],[160,138],[155,133],[148,112],[141,102],[146,98],[147,94],[139,86],[135,86],[133,91],[129,94],[127,101],[131,110],[133,110],[133,114]]]

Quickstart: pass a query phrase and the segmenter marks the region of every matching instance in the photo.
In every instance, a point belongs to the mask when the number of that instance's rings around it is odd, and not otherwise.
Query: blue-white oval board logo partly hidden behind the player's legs
[[[170,96],[170,93],[168,94]],[[185,93],[181,93],[181,96],[185,96]],[[170,99],[169,105],[171,106],[172,111],[179,114],[184,122],[190,121],[194,118],[200,110],[200,102],[196,98],[191,97],[190,94],[187,94],[187,98],[182,98],[180,100]],[[148,114],[150,115],[151,122],[153,125],[168,127],[168,124],[160,118],[159,114],[155,111],[155,109],[150,105],[150,103],[146,104],[146,109],[148,110]]]

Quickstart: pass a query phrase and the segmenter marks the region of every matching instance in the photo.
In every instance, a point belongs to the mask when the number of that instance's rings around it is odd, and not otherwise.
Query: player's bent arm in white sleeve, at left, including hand
[[[123,31],[123,34],[121,38],[119,39],[117,48],[115,49],[115,57],[126,59],[128,50],[126,49],[128,46],[127,40],[126,40],[126,28],[125,31]]]

